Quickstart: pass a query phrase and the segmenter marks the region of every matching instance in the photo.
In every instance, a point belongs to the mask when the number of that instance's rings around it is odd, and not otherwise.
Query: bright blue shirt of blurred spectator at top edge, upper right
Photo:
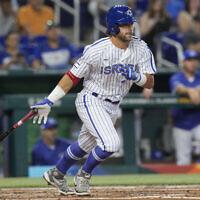
[[[179,13],[185,8],[184,0],[165,0],[167,13],[176,22]]]

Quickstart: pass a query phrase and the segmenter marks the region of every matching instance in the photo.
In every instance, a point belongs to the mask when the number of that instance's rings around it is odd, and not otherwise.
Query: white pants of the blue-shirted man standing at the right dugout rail
[[[189,165],[191,163],[192,133],[188,130],[174,127],[173,138],[177,165]]]

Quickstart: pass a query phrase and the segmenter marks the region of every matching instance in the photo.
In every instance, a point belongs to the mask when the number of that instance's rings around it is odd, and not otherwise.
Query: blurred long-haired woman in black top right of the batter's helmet
[[[164,0],[150,0],[148,10],[140,21],[141,36],[155,54],[156,36],[165,31],[169,31],[172,20],[165,10]]]

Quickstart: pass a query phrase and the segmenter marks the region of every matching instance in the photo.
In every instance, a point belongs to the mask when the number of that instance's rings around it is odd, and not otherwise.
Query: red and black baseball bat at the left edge
[[[16,128],[21,126],[27,119],[30,119],[32,116],[37,114],[37,109],[32,109],[27,115],[20,119],[16,124],[14,124],[6,132],[0,134],[0,142],[2,142],[8,135],[10,135]]]

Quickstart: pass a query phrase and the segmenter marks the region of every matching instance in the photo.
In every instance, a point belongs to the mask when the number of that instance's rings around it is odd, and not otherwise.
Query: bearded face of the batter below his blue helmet
[[[120,32],[117,34],[118,39],[122,42],[130,42],[133,36],[133,23],[119,25]]]

